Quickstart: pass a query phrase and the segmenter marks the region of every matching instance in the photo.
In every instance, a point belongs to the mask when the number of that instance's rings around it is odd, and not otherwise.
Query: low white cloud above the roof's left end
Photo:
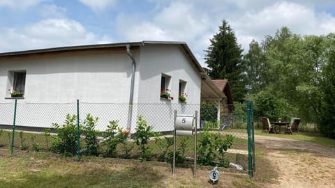
[[[22,28],[0,31],[1,52],[110,42],[107,36],[96,36],[71,19],[44,19]]]

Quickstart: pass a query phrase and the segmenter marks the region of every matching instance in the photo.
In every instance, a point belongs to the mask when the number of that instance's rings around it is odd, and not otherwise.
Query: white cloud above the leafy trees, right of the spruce
[[[335,31],[335,17],[332,15],[316,13],[311,6],[287,1],[274,3],[257,12],[246,12],[228,21],[245,50],[248,50],[251,40],[260,42],[267,35],[274,36],[282,26],[288,26],[293,33],[301,35],[322,35]]]

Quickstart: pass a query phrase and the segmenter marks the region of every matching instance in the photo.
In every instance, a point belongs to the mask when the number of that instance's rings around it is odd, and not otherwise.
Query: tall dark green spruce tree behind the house
[[[209,67],[211,79],[229,79],[230,91],[234,101],[243,101],[246,95],[244,65],[241,61],[241,45],[237,44],[234,31],[223,20],[219,32],[210,39],[211,45],[205,50],[205,63]]]

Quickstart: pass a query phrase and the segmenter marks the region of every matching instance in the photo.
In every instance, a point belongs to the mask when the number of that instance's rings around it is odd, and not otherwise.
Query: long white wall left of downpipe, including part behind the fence
[[[13,100],[5,99],[10,97],[8,71],[25,70],[24,100],[18,100],[17,125],[51,127],[52,123],[63,123],[67,113],[77,112],[78,99],[80,119],[91,113],[99,117],[99,130],[104,130],[110,120],[120,120],[126,127],[131,85],[131,60],[126,51],[2,58],[0,68],[0,124],[13,123]]]

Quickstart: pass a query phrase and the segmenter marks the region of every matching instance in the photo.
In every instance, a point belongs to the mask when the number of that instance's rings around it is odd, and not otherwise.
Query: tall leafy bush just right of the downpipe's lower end
[[[137,127],[135,128],[135,141],[136,145],[140,147],[140,159],[148,160],[151,157],[151,149],[147,146],[150,137],[157,136],[155,132],[152,131],[152,127],[147,125],[147,121],[138,116]]]

